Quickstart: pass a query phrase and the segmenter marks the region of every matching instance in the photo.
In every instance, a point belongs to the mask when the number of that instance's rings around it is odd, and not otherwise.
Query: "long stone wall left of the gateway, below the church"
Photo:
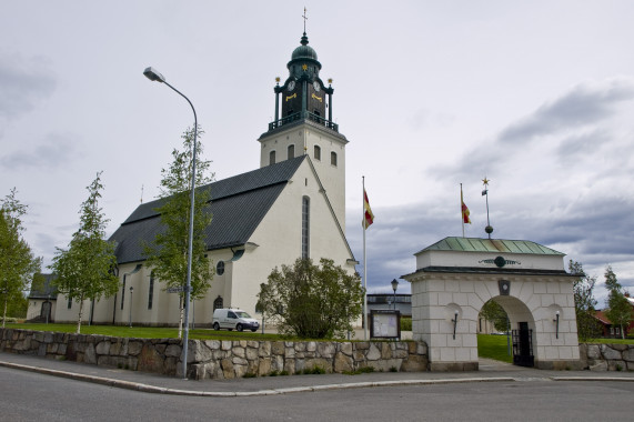
[[[0,329],[0,351],[182,375],[182,341],[178,339],[121,339]],[[189,341],[190,379],[260,376],[282,371],[295,374],[315,366],[329,373],[365,366],[375,371],[426,371],[427,348],[423,342],[412,341]]]

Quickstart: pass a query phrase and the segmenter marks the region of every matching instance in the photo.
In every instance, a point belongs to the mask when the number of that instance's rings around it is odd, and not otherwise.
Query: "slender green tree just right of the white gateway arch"
[[[595,339],[601,335],[601,326],[594,318],[596,299],[594,299],[593,290],[596,277],[586,274],[582,263],[573,260],[568,262],[568,272],[576,275],[573,282],[573,293],[577,336],[581,341]]]

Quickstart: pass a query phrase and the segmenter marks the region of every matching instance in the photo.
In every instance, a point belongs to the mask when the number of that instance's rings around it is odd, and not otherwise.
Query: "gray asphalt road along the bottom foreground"
[[[632,382],[544,380],[192,398],[0,368],[1,421],[626,421]]]

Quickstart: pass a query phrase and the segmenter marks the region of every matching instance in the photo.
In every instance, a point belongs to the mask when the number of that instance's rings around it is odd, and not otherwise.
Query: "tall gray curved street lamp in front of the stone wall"
[[[150,67],[143,71],[143,74],[151,81],[157,81],[167,84],[179,96],[184,98],[193,111],[193,150],[192,150],[192,167],[191,167],[191,193],[190,193],[190,232],[188,242],[188,277],[185,284],[185,321],[184,321],[184,333],[183,333],[183,379],[188,379],[188,342],[189,342],[189,311],[190,311],[190,287],[191,287],[191,261],[192,261],[192,249],[193,249],[193,211],[194,211],[194,190],[195,190],[195,144],[198,142],[198,118],[195,115],[195,109],[193,104],[182,92],[172,87],[165,81],[165,78],[159,73],[154,68]]]

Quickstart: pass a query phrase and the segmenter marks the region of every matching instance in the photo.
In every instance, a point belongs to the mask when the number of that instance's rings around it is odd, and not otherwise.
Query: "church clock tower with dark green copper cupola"
[[[332,120],[332,80],[320,78],[321,63],[304,31],[286,64],[289,77],[274,87],[275,114],[261,143],[260,167],[308,154],[341,228],[345,232],[345,144]],[[281,104],[280,104],[281,102]],[[280,107],[281,105],[281,107]]]

